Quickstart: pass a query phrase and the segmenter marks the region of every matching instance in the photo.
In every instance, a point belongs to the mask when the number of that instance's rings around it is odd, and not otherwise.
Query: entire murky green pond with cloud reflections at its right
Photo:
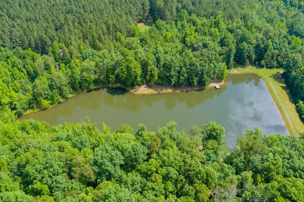
[[[227,147],[247,129],[258,126],[265,134],[288,135],[283,119],[263,79],[254,75],[229,75],[219,90],[185,93],[133,95],[118,89],[101,89],[74,96],[50,109],[31,113],[21,119],[46,121],[51,125],[78,123],[88,116],[101,129],[102,122],[116,130],[121,124],[135,129],[138,123],[156,131],[169,121],[177,129],[189,131],[191,125],[216,121],[225,127]]]

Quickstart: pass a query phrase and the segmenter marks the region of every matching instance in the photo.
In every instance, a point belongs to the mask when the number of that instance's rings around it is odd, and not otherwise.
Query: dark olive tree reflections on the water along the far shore
[[[233,85],[236,85],[240,83],[250,83],[253,80],[254,85],[259,84],[260,79],[252,75],[228,75],[226,83],[231,82]],[[226,89],[227,85],[222,85],[219,90],[209,88],[184,93],[165,93],[141,96],[135,96],[121,88],[98,89],[69,98],[65,102],[56,105],[51,109],[24,115],[21,119],[34,118],[54,124],[60,116],[75,116],[74,111],[78,108],[85,109],[86,111],[84,111],[83,115],[86,116],[90,116],[90,113],[92,113],[91,111],[102,111],[104,108],[127,110],[136,114],[141,111],[144,105],[152,108],[153,105],[159,102],[163,103],[165,109],[168,111],[174,109],[178,103],[185,103],[187,109],[193,109],[195,106],[200,105],[207,100],[212,100],[214,97],[219,98]]]

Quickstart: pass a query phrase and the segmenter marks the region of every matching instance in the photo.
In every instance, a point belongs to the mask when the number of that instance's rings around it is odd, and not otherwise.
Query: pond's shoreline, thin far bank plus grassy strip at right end
[[[288,93],[285,90],[286,84],[280,76],[280,74],[283,72],[282,69],[263,69],[263,68],[256,68],[253,66],[244,67],[239,64],[235,64],[233,69],[235,69],[237,72],[233,73],[232,70],[230,70],[229,74],[236,74],[236,75],[254,74],[259,78],[262,78],[266,83],[266,86],[269,90],[272,99],[274,100],[276,107],[279,109],[279,112],[283,118],[284,123],[286,124],[289,134],[298,136],[300,133],[304,132],[304,123],[302,122],[296,110],[295,103],[293,102],[290,93]],[[135,95],[149,95],[149,94],[158,94],[158,93],[180,93],[180,92],[211,89],[214,88],[216,84],[221,86],[225,84],[225,81],[215,80],[212,83],[210,83],[208,86],[175,87],[175,86],[156,85],[154,87],[149,87],[148,85],[142,85],[142,86],[136,86],[135,88],[129,91],[126,89],[125,86],[120,84],[112,84],[112,85],[104,85],[104,86],[98,85],[92,90],[84,89],[84,90],[73,91],[72,94],[70,94],[66,99],[62,99],[60,103],[64,102],[65,100],[75,95],[102,89],[102,88],[121,88]],[[51,105],[47,109],[52,108],[60,103]],[[45,109],[40,109],[40,108],[28,109],[24,112],[23,115],[34,113],[41,110],[45,110]]]

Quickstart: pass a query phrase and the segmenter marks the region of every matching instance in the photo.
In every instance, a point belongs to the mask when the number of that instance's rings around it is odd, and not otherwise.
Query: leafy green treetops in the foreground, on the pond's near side
[[[99,131],[86,118],[52,127],[1,113],[8,118],[0,120],[4,202],[304,200],[303,137],[255,128],[229,153],[214,122],[192,127],[188,138],[174,122],[157,133],[139,124],[132,134],[127,124]]]

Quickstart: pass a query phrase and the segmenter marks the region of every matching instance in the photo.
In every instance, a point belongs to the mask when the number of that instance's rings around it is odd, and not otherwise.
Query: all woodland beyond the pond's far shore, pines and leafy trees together
[[[224,79],[234,61],[284,66],[290,92],[296,100],[304,100],[304,17],[296,4],[274,0],[246,0],[246,6],[226,5],[223,0],[17,4],[14,0],[1,4],[0,89],[9,98],[1,99],[1,104],[18,116],[37,105],[46,108],[42,99],[57,104],[72,90],[109,84],[127,89],[142,84],[205,86]],[[46,11],[43,19],[39,12],[31,12],[34,4],[35,10]],[[140,32],[134,24],[147,19],[149,7],[155,25]],[[34,25],[23,26],[27,17],[12,21],[8,15],[14,11],[32,16]]]

